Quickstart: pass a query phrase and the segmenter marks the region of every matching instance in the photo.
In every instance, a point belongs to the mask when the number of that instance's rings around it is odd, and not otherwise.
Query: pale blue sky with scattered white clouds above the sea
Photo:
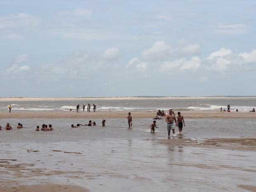
[[[0,0],[0,97],[255,96],[255,0]]]

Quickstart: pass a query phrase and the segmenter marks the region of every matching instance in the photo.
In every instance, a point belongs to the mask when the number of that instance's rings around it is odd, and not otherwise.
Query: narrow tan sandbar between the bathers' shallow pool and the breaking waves
[[[176,117],[178,111],[175,111]],[[181,111],[184,119],[256,119],[254,112]],[[128,111],[0,112],[0,119],[126,119]],[[155,112],[131,112],[133,119],[153,119]],[[164,120],[165,117],[163,116]]]

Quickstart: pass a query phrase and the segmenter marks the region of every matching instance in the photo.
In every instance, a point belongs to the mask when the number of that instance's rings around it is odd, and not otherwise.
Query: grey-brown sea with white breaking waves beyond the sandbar
[[[69,111],[75,110],[80,105],[80,110],[85,110],[90,103],[97,106],[97,111],[220,111],[227,110],[230,104],[231,111],[250,111],[256,107],[256,97],[132,97],[118,98],[76,98],[76,100],[38,100],[38,101],[1,101],[0,112],[8,111],[12,106],[13,111]]]

